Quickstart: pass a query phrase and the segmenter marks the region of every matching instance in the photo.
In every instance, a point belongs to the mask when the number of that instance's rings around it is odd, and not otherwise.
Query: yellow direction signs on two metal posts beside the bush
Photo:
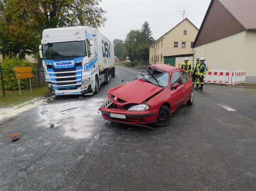
[[[16,78],[18,79],[19,94],[21,95],[21,83],[20,83],[19,79],[25,79],[25,78],[29,78],[30,93],[32,93],[31,78],[34,76],[34,74],[32,73],[32,67],[30,67],[30,66],[16,66],[16,67],[14,67],[13,71],[16,72]]]

